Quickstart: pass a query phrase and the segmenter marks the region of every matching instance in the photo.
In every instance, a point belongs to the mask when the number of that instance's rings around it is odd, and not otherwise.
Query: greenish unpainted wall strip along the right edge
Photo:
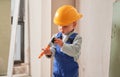
[[[120,1],[113,3],[109,77],[120,77]]]

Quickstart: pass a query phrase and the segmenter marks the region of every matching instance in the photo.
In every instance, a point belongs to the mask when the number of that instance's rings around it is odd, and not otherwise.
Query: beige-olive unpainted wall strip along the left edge
[[[10,0],[0,0],[0,76],[7,74],[10,27]]]

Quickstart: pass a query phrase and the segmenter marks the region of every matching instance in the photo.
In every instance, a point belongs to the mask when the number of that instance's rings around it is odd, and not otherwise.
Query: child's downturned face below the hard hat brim
[[[68,34],[70,33],[72,30],[74,30],[74,28],[76,27],[76,22],[73,22],[69,25],[65,25],[65,26],[59,26],[58,30],[60,32],[62,32],[63,34]]]

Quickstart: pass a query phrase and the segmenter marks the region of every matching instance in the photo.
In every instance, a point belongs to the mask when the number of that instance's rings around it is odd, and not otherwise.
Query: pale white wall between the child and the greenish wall
[[[112,0],[81,0],[81,77],[108,77]]]

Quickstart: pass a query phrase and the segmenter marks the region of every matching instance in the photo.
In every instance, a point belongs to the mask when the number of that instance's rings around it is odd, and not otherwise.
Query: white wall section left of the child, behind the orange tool
[[[50,77],[50,60],[45,57],[39,60],[38,55],[51,36],[51,1],[29,1],[31,76]]]

